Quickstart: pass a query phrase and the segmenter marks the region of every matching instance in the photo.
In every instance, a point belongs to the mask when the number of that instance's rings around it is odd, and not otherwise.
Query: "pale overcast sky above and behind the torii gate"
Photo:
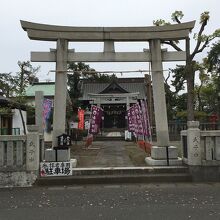
[[[220,28],[219,0],[1,0],[0,72],[17,72],[17,62],[30,60],[30,51],[55,48],[53,42],[30,40],[20,20],[65,26],[152,26],[152,21],[158,18],[171,21],[170,15],[175,10],[183,11],[183,22],[197,21],[193,32],[198,31],[199,17],[204,11],[209,11],[211,16],[206,33]],[[101,43],[70,44],[76,51],[102,51],[102,46]],[[147,47],[147,43],[116,44],[117,51],[142,51]],[[54,64],[32,64],[41,66],[40,80],[54,79],[54,73],[48,75],[48,71],[55,69]],[[165,64],[164,68],[172,65]],[[148,69],[147,63],[91,63],[90,66],[99,71]]]

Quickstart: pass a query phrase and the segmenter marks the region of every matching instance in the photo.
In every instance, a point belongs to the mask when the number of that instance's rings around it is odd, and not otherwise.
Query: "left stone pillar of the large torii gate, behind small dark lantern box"
[[[57,146],[57,136],[65,133],[66,122],[66,94],[67,94],[67,52],[68,41],[57,40],[55,100],[53,115],[53,143]]]

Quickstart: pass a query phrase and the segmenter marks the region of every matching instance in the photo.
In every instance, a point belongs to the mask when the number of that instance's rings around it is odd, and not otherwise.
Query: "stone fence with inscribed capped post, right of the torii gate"
[[[188,122],[181,144],[193,181],[220,181],[220,130],[201,131],[199,122]]]

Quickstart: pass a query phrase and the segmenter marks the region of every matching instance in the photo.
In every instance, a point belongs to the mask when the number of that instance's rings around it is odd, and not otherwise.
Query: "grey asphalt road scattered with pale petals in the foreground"
[[[1,220],[219,220],[220,183],[0,190]]]

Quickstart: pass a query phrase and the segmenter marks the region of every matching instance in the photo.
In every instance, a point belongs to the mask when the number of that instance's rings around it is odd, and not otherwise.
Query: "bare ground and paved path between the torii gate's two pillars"
[[[114,133],[114,137],[118,137]],[[92,147],[85,148],[85,141],[78,142],[71,148],[71,158],[77,159],[77,167],[141,167],[146,166],[145,157],[148,156],[144,150],[134,142],[114,140],[94,141]],[[172,142],[179,149],[180,143]]]

